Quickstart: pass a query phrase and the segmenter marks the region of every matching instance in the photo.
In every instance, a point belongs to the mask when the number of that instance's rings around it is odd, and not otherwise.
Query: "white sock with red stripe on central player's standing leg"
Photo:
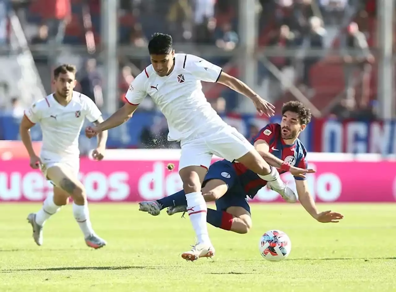
[[[208,225],[206,223],[206,213],[208,208],[202,193],[186,194],[187,213],[190,218],[192,228],[198,239],[198,243],[210,243]]]

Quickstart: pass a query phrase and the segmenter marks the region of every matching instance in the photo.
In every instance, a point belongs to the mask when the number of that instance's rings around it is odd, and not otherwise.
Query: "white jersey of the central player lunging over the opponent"
[[[201,84],[216,82],[221,71],[200,57],[175,54],[175,66],[168,76],[158,76],[152,65],[146,67],[129,86],[126,99],[138,105],[150,95],[168,121],[169,141],[205,135],[227,126],[206,100]]]

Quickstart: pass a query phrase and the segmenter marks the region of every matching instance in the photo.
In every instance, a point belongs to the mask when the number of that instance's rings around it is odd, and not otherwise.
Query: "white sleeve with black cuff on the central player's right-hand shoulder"
[[[217,82],[223,69],[201,57],[185,54],[183,67],[189,71],[197,80],[205,82]]]

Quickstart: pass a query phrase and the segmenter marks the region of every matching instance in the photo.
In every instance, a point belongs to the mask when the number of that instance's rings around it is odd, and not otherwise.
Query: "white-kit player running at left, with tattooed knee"
[[[21,139],[30,156],[30,166],[40,168],[54,185],[53,195],[44,200],[38,212],[29,214],[27,220],[33,227],[34,241],[42,245],[44,223],[72,197],[74,218],[84,234],[86,244],[91,248],[101,248],[106,245],[106,241],[92,229],[86,192],[78,181],[78,137],[85,118],[99,124],[103,122],[102,114],[88,96],[73,90],[76,85],[76,67],[61,65],[54,70],[53,75],[55,92],[25,111],[20,126]],[[40,124],[43,134],[40,156],[32,148],[29,132],[36,123]],[[96,160],[103,159],[106,140],[107,131],[101,132],[98,146],[93,151]]]

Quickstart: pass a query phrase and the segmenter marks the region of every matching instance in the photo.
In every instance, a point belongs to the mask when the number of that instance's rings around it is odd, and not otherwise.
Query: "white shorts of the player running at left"
[[[78,156],[62,157],[54,153],[42,152],[40,154],[40,158],[42,161],[42,166],[40,169],[46,179],[50,180],[47,177],[47,170],[53,166],[58,166],[62,170],[65,170],[65,172],[69,172],[76,178],[78,177],[78,172],[80,171],[80,158]]]

